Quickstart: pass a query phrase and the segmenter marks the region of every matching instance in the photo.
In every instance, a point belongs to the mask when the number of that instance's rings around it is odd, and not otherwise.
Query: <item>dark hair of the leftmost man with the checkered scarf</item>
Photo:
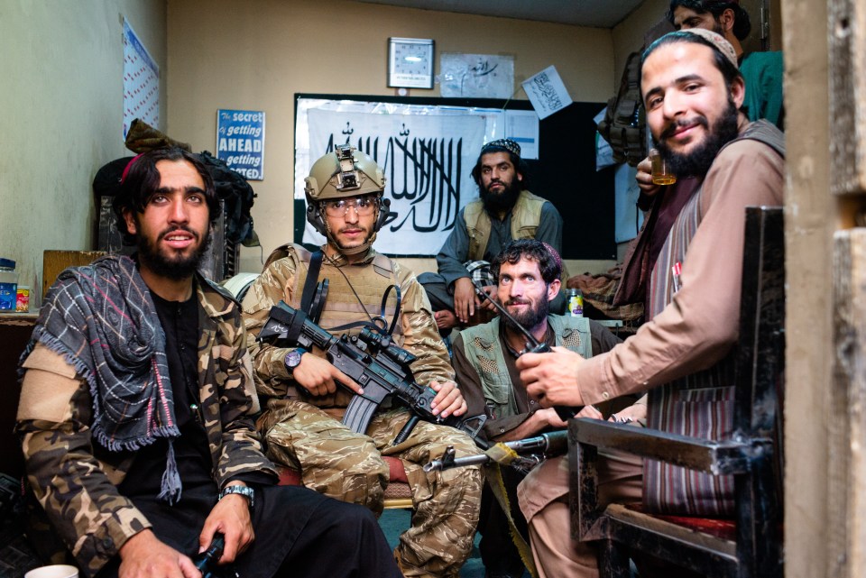
[[[120,181],[120,189],[112,201],[112,209],[115,212],[117,230],[124,236],[124,243],[134,244],[135,235],[130,234],[126,228],[124,212],[143,213],[144,206],[150,200],[152,194],[160,188],[160,171],[156,169],[159,161],[187,161],[198,172],[205,183],[205,199],[210,211],[211,222],[216,221],[220,214],[217,190],[214,188],[214,179],[210,175],[204,163],[197,154],[184,151],[178,147],[167,147],[144,152],[132,161],[124,170],[124,176]]]

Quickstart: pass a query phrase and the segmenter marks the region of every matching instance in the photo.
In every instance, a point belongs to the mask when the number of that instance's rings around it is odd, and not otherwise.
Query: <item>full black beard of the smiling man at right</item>
[[[703,177],[713,164],[716,155],[722,147],[736,138],[738,134],[737,122],[739,113],[733,100],[728,98],[728,107],[723,114],[716,119],[712,130],[709,130],[706,117],[697,119],[698,124],[707,129],[704,142],[699,144],[694,151],[679,153],[668,147],[667,137],[670,136],[679,124],[671,124],[663,133],[659,142],[656,143],[662,158],[668,162],[671,172],[678,177]],[[691,119],[686,123],[693,122]],[[684,124],[686,124],[684,123]]]

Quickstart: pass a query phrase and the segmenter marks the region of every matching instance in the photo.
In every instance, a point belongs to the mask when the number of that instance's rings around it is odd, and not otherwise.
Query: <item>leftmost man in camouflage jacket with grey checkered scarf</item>
[[[218,210],[194,155],[136,157],[115,197],[136,258],[64,271],[46,297],[17,431],[41,527],[62,540],[51,558],[68,549],[88,578],[190,578],[218,532],[244,577],[399,576],[368,511],[273,485],[240,311],[196,272]]]

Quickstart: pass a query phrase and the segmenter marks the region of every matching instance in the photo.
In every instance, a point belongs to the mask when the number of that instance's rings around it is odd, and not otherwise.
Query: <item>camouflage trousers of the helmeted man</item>
[[[412,488],[412,520],[394,557],[404,576],[456,577],[472,550],[483,474],[479,466],[429,473],[422,466],[448,445],[457,455],[479,450],[463,432],[424,421],[392,446],[409,417],[404,408],[379,412],[361,435],[308,403],[272,399],[258,427],[268,457],[297,469],[305,486],[377,515],[389,479],[382,456],[400,458]]]

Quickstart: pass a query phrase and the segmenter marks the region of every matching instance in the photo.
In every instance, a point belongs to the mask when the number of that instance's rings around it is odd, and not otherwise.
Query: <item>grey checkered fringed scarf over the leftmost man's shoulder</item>
[[[61,272],[22,361],[36,343],[60,353],[88,382],[91,432],[100,445],[134,451],[160,437],[180,436],[165,334],[150,290],[129,257],[102,257]],[[171,443],[160,497],[180,499]]]

